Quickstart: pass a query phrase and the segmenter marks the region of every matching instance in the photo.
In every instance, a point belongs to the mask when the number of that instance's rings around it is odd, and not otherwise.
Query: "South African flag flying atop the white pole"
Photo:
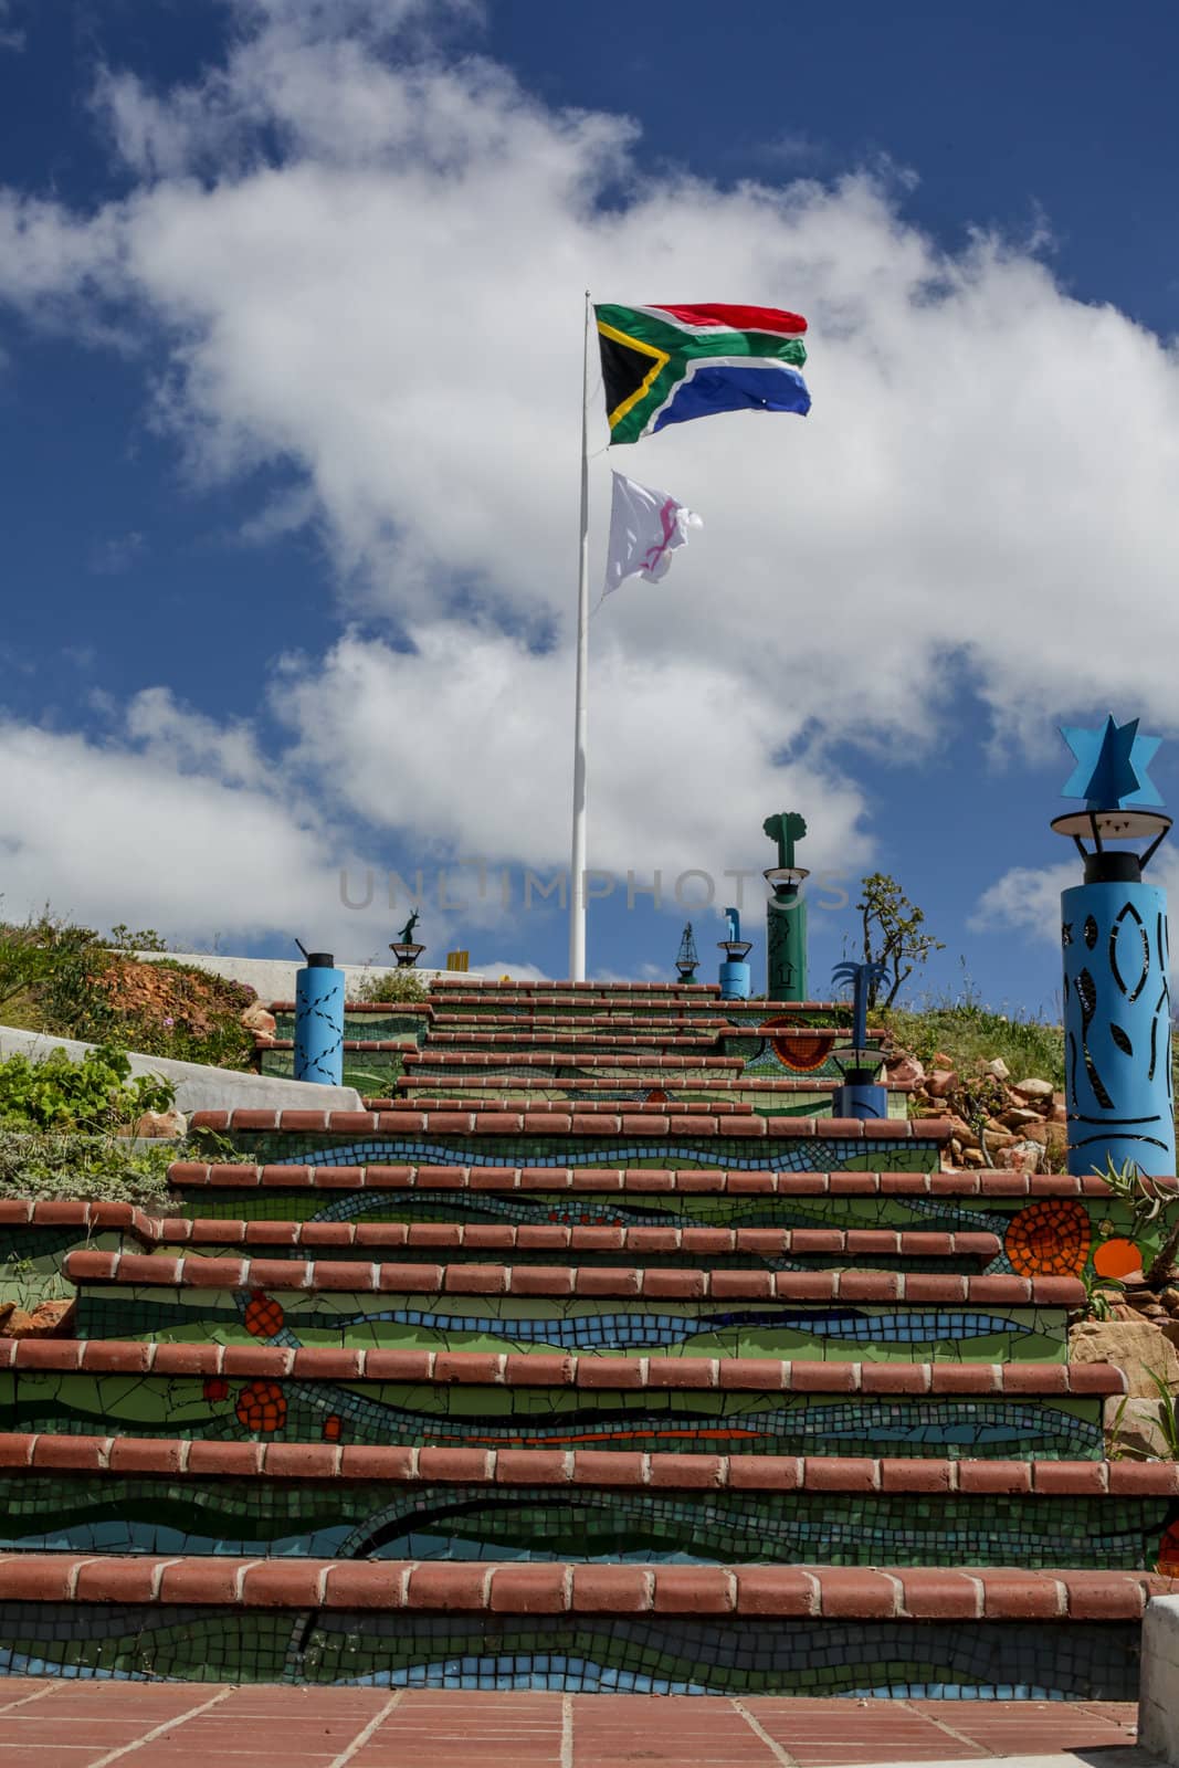
[[[594,313],[612,442],[712,412],[811,408],[797,313],[714,301]]]

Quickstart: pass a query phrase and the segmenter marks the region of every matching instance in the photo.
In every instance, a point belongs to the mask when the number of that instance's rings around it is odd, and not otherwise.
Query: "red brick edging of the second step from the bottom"
[[[921,1492],[1175,1497],[1179,1464],[910,1460],[840,1455],[666,1455],[629,1450],[203,1443],[187,1437],[0,1434],[0,1473],[134,1478],[389,1480],[707,1492]]]

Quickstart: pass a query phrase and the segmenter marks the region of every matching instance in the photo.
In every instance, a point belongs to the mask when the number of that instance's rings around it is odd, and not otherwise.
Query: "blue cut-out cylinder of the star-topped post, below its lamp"
[[[1175,1170],[1167,893],[1133,852],[1085,857],[1061,895],[1068,1170]]]

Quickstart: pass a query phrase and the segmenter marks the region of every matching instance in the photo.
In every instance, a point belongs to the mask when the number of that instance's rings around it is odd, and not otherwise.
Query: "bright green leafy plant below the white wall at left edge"
[[[173,1089],[150,1075],[131,1077],[124,1050],[103,1045],[71,1063],[64,1050],[44,1061],[0,1063],[0,1124],[5,1128],[110,1132],[147,1110],[168,1110]]]

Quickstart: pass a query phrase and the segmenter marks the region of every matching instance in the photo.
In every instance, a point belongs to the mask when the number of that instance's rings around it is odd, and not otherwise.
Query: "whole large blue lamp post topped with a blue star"
[[[1068,1170],[1084,1177],[1112,1162],[1174,1174],[1167,893],[1142,882],[1170,829],[1147,808],[1160,804],[1145,771],[1158,737],[1112,716],[1062,735],[1076,757],[1064,796],[1085,799],[1052,824],[1085,861],[1084,884],[1061,893]],[[1149,840],[1145,852],[1110,847],[1135,838]]]

